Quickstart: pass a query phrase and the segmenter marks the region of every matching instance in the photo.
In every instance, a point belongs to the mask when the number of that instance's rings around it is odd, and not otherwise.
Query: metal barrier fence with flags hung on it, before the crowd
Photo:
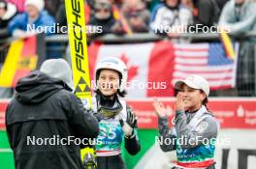
[[[222,90],[212,92],[211,96],[219,97],[256,97],[256,41],[248,42],[248,38],[254,37],[256,39],[256,32],[248,32],[245,35],[231,35],[235,38],[237,42],[240,42],[240,61],[243,69],[238,73],[238,85],[235,89]],[[90,42],[103,42],[103,43],[131,43],[131,42],[157,42],[161,40],[167,40],[166,37],[160,37],[153,33],[145,34],[133,34],[129,36],[116,36],[116,35],[106,35],[94,40],[88,40]],[[219,41],[218,33],[198,33],[198,34],[182,34],[179,40],[184,40],[186,42],[209,42],[209,41]],[[8,51],[8,43],[2,42],[0,47],[0,66],[3,63],[4,58]],[[55,35],[46,37],[47,43],[47,54],[59,55],[67,60],[70,59],[68,50],[68,36],[67,35]],[[57,45],[52,45],[56,44]],[[239,65],[240,66],[240,65]],[[240,70],[240,68],[238,68]],[[244,82],[244,83],[243,83]],[[1,96],[0,96],[1,97]]]

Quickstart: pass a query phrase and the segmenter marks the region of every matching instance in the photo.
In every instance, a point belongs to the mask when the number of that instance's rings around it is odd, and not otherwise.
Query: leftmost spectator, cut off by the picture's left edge
[[[16,6],[5,0],[0,0],[0,38],[8,37],[7,26],[15,15]]]

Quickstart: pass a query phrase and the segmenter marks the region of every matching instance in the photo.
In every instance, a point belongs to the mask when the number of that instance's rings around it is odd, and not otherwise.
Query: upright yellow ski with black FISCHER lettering
[[[85,108],[91,107],[91,88],[88,67],[86,27],[83,0],[65,1],[71,61],[74,79],[74,92]],[[94,154],[92,148],[80,151],[81,158],[87,153]]]

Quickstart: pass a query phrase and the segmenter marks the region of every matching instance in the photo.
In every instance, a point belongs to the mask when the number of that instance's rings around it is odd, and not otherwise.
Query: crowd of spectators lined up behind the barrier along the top
[[[176,38],[180,29],[199,24],[229,26],[234,33],[256,30],[255,0],[87,0],[84,4],[86,25],[102,28],[100,33],[89,32],[91,37],[154,32]],[[0,0],[1,37],[26,37],[27,25],[54,23],[67,26],[64,0]]]

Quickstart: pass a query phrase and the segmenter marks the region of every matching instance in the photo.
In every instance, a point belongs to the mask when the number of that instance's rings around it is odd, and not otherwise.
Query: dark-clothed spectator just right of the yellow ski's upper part
[[[93,6],[92,16],[90,18],[90,26],[101,26],[101,33],[89,33],[89,37],[97,37],[112,33],[112,26],[115,20],[112,15],[112,4],[109,0],[96,0]]]

